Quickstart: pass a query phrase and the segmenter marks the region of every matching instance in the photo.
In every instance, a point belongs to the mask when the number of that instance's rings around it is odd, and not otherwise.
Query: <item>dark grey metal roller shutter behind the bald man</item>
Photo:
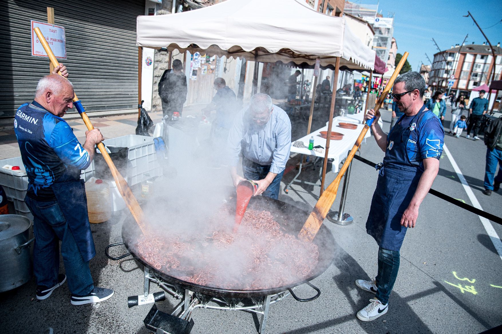
[[[8,0],[0,1],[0,117],[12,117],[30,102],[38,80],[48,74],[49,60],[31,56],[30,20],[65,28],[70,81],[87,111],[128,109],[138,105],[136,18],[144,0]],[[75,109],[72,112],[76,112]]]

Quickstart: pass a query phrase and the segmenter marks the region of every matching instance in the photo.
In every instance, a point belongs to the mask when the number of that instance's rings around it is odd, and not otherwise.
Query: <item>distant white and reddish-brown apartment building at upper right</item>
[[[428,84],[436,89],[470,91],[483,84],[489,85],[492,71],[495,80],[500,80],[502,71],[502,49],[500,43],[493,47],[493,59],[489,45],[455,45],[434,55]],[[453,85],[448,85],[453,81]]]

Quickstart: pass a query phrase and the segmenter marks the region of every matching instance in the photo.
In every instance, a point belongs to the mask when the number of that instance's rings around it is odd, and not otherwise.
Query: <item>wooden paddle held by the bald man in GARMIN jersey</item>
[[[40,43],[42,43],[42,46],[45,49],[45,52],[49,56],[49,59],[51,60],[52,65],[54,67],[59,66],[59,62],[54,56],[54,53],[51,50],[51,47],[45,40],[44,35],[42,35],[42,32],[40,31],[39,28],[35,28],[35,33],[37,34],[38,39],[40,40]],[[61,75],[61,72],[58,73]],[[89,117],[85,113],[85,109],[82,106],[82,103],[80,100],[77,98],[77,95],[75,94],[75,97],[73,97],[73,104],[75,104],[75,107],[78,110],[78,113],[82,117],[82,120],[84,121],[85,125],[87,126],[87,129],[93,130],[94,127],[91,124],[91,121],[89,120]],[[136,222],[140,226],[141,231],[143,232],[144,235],[146,235],[146,227],[144,223],[144,215],[143,215],[143,210],[140,207],[140,204],[138,203],[138,200],[136,197],[134,197],[133,192],[131,191],[131,188],[127,184],[126,180],[120,175],[118,172],[117,168],[113,164],[113,161],[111,161],[111,158],[106,152],[106,149],[104,147],[103,143],[99,143],[97,145],[99,151],[101,152],[101,155],[103,156],[104,160],[108,164],[108,167],[110,168],[111,175],[113,175],[113,179],[115,180],[115,183],[117,185],[117,189],[120,192],[120,195],[122,195],[122,198],[126,202],[127,206],[129,207],[129,210],[131,210],[131,213],[133,214],[134,219],[136,219]]]

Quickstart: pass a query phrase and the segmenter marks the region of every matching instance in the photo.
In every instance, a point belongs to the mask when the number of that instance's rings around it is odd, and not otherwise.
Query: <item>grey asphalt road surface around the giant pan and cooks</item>
[[[387,130],[390,112],[383,113]],[[447,121],[449,116],[448,112]],[[443,155],[440,160],[433,188],[471,203],[452,167],[453,158],[482,208],[502,216],[502,190],[491,196],[481,192],[486,152],[482,141],[446,135],[445,143],[451,157]],[[380,162],[384,153],[370,137],[361,146],[361,156]],[[291,163],[299,158],[293,157]],[[293,169],[283,181],[288,182],[294,174]],[[327,181],[335,176],[329,172]],[[315,181],[318,170],[308,169],[301,177]],[[408,231],[401,249],[401,267],[388,313],[372,322],[355,317],[373,296],[356,288],[354,280],[376,275],[378,246],[365,232],[376,178],[372,167],[353,162],[345,211],[354,222],[348,226],[324,222],[337,248],[331,267],[312,281],[321,289],[321,296],[306,303],[289,296],[271,305],[266,333],[479,333],[502,324],[502,259],[479,217],[430,194],[420,207],[417,227]],[[310,211],[318,195],[319,187],[294,184],[288,194],[281,191],[279,199]],[[341,189],[333,210],[338,209],[340,197]],[[32,280],[0,294],[0,332],[43,333],[52,327],[55,333],[149,333],[143,319],[151,304],[127,307],[128,296],[143,292],[141,265],[131,258],[111,261],[103,254],[106,245],[121,241],[122,218],[115,216],[92,225],[98,253],[91,261],[92,275],[96,285],[115,289],[111,299],[96,305],[72,306],[64,285],[44,301],[31,301],[36,289]],[[502,226],[491,226],[498,237],[502,236]],[[152,284],[151,292],[159,290]],[[307,297],[313,291],[301,286],[297,293]],[[169,310],[177,303],[169,297],[159,303],[159,308]],[[258,317],[242,311],[196,309],[192,318],[192,333],[257,332]]]

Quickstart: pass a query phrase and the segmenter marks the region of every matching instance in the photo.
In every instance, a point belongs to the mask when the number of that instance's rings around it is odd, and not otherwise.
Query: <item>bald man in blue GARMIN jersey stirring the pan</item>
[[[68,279],[73,305],[110,298],[112,289],[94,285],[89,261],[96,255],[84,181],[80,171],[92,162],[99,129],[85,132],[81,145],[62,117],[73,107],[73,85],[63,64],[39,80],[35,99],[19,107],[14,119],[28,176],[25,202],[33,214],[33,273],[37,299],[47,299]],[[65,274],[59,274],[59,241]]]

